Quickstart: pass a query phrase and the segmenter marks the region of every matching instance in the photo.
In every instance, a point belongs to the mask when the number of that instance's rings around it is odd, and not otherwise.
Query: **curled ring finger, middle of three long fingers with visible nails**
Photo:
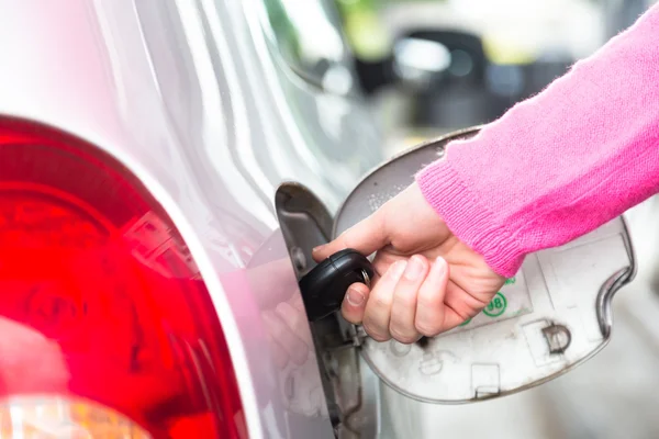
[[[421,285],[428,274],[429,263],[421,255],[414,255],[407,261],[407,267],[395,286],[391,305],[391,322],[389,333],[391,337],[403,344],[411,344],[418,339],[421,334],[414,326],[416,315],[416,296]]]

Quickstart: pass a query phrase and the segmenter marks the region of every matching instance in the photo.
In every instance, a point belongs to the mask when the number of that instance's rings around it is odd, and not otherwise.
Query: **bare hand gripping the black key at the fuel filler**
[[[344,318],[377,341],[410,344],[449,330],[487,306],[505,281],[453,235],[416,183],[313,257],[344,248],[377,251],[370,291],[354,283],[342,305]]]

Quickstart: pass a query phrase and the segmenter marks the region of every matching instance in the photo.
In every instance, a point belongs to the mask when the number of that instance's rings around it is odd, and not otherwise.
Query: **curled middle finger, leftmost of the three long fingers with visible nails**
[[[393,263],[370,292],[364,313],[364,329],[376,341],[386,341],[391,338],[389,320],[393,292],[406,264],[407,261],[404,260]]]

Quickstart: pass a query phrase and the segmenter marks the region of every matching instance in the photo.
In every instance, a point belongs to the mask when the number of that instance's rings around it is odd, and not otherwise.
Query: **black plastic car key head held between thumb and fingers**
[[[300,291],[310,322],[338,311],[348,286],[360,282],[370,286],[373,266],[364,255],[347,248],[337,251],[300,279]]]

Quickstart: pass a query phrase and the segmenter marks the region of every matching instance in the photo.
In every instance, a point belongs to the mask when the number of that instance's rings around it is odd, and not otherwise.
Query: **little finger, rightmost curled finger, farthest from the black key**
[[[445,328],[444,297],[447,284],[448,264],[444,258],[438,257],[431,267],[416,297],[414,326],[420,334],[426,337],[434,337]]]

